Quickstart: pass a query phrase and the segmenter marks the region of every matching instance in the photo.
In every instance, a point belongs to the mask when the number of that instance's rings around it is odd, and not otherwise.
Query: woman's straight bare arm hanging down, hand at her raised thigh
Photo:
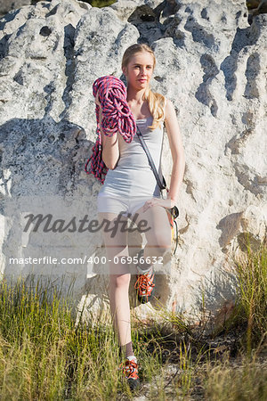
[[[165,125],[168,140],[173,157],[173,169],[170,188],[167,199],[171,199],[171,204],[178,201],[178,194],[182,185],[182,178],[185,168],[184,151],[182,146],[182,135],[179,129],[174,104],[166,99]]]

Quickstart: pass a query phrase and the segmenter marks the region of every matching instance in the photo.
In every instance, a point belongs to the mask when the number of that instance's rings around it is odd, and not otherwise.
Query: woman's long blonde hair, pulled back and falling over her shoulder
[[[125,50],[121,63],[122,69],[127,68],[128,63],[131,60],[131,57],[135,53],[143,53],[143,52],[148,52],[152,55],[153,71],[154,71],[156,66],[155,54],[153,50],[150,48],[150,46],[144,43],[131,45]],[[157,92],[152,92],[152,90],[150,89],[150,85],[148,85],[146,87],[142,99],[143,101],[147,100],[149,102],[150,113],[153,116],[153,123],[149,128],[155,129],[158,127],[161,121],[164,121],[164,108],[166,102],[165,96],[163,94],[158,94]]]

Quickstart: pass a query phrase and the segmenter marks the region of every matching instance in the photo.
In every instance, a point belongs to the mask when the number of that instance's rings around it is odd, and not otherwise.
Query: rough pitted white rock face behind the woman
[[[174,102],[186,155],[179,246],[169,274],[157,275],[158,298],[186,313],[199,310],[203,294],[212,312],[234,298],[232,258],[244,250],[246,235],[253,244],[266,235],[267,17],[250,26],[245,1],[222,3],[134,0],[99,9],[53,0],[0,20],[5,277],[34,274],[58,285],[64,275],[65,294],[75,278],[78,307],[94,315],[108,307],[107,263],[84,260],[105,256],[101,233],[78,232],[78,220],[96,218],[101,188],[84,171],[96,139],[92,84],[109,74],[123,78],[122,55],[140,41],[156,53],[151,86]],[[169,182],[168,148],[165,133]],[[25,230],[30,213],[46,216],[44,223],[50,218],[46,232],[41,222],[42,230]],[[68,224],[72,232],[63,229]],[[140,235],[132,239],[142,245]],[[27,264],[29,257],[82,261]],[[155,303],[134,309],[157,315]]]

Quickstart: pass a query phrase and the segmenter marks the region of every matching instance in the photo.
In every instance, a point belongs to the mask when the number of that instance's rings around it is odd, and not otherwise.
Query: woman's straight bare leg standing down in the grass
[[[109,227],[114,226],[117,219],[116,213],[98,213],[99,222],[102,219],[108,220]],[[127,222],[127,218],[120,216],[121,222]],[[121,349],[125,356],[133,355],[131,348],[131,322],[130,322],[130,304],[129,304],[129,283],[131,274],[128,265],[119,262],[120,258],[127,257],[127,231],[121,231],[121,224],[118,225],[115,236],[112,231],[105,230],[103,226],[102,235],[105,243],[107,259],[109,260],[109,303],[113,319],[114,329]],[[126,349],[125,349],[126,348]],[[128,354],[128,355],[127,355]]]

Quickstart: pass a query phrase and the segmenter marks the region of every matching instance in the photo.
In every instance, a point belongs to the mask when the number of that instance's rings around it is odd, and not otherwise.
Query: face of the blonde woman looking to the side
[[[152,55],[149,52],[135,53],[123,72],[128,86],[133,86],[135,89],[145,88],[153,74]]]

